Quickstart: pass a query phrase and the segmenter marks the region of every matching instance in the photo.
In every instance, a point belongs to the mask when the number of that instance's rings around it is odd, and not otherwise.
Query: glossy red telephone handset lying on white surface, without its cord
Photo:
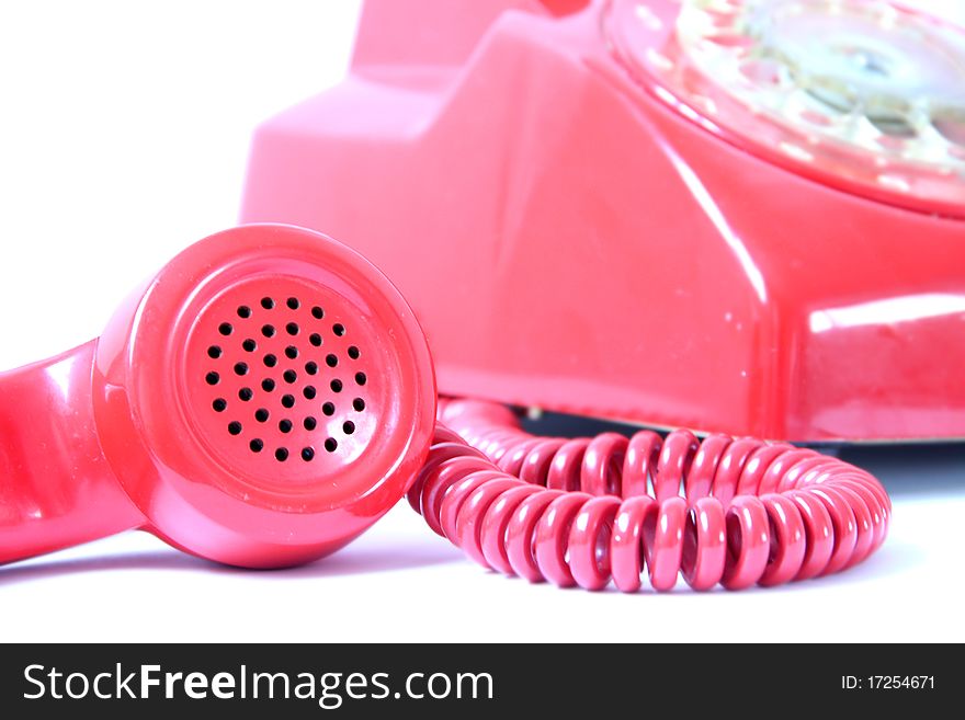
[[[232,565],[319,558],[408,490],[435,402],[412,311],[361,255],[219,232],[100,339],[0,374],[0,562],[132,528]]]

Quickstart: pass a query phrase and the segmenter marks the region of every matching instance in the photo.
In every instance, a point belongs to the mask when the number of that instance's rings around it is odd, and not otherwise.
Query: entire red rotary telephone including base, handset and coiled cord
[[[189,249],[0,377],[0,559],[141,527],[292,564],[408,492],[558,585],[859,562],[874,478],[723,432],[965,435],[962,38],[890,2],[370,0],[348,80],[258,132],[242,219],[332,232],[415,315],[310,230]]]

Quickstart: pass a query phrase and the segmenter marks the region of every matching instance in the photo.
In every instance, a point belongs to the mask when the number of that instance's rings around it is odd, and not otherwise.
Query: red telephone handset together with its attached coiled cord
[[[890,513],[877,480],[809,449],[535,437],[503,405],[436,401],[401,295],[293,226],[196,243],[99,340],[0,375],[0,562],[141,528],[223,563],[292,565],[407,492],[488,568],[627,592],[645,568],[661,591],[680,574],[705,590],[836,572]]]

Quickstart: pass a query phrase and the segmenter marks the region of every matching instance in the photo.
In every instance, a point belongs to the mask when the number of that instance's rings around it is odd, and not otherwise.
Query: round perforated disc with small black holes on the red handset
[[[352,318],[339,307],[327,310],[337,300],[262,285],[253,297],[239,292],[213,304],[211,317],[198,320],[200,334],[207,335],[190,366],[196,368],[193,387],[206,396],[211,422],[203,423],[213,439],[259,467],[284,464],[291,477],[322,458],[357,453],[371,437],[362,395],[370,380],[361,365],[365,335],[352,336]]]

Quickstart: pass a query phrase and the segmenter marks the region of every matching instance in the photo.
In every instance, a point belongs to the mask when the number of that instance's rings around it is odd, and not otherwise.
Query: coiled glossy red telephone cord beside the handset
[[[657,591],[680,575],[776,585],[861,562],[888,530],[881,483],[814,450],[688,431],[535,437],[478,400],[444,401],[440,419],[410,504],[479,564],[532,582],[635,592],[646,568]]]

